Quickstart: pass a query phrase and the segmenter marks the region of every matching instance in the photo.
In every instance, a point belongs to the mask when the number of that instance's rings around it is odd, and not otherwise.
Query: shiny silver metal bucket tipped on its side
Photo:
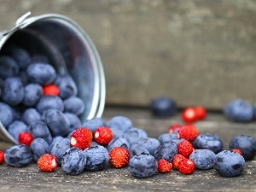
[[[18,44],[30,53],[48,55],[57,73],[69,73],[78,86],[78,96],[84,101],[86,119],[101,117],[105,106],[105,76],[101,58],[84,30],[64,15],[38,15],[18,19],[10,30],[0,33],[0,52],[10,43]],[[17,143],[0,121],[0,140]]]

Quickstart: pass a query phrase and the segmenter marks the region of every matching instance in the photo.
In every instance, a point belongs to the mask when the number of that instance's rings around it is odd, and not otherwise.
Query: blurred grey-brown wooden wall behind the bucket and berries
[[[0,31],[26,12],[66,15],[96,45],[107,105],[221,110],[256,98],[255,0],[0,0]]]

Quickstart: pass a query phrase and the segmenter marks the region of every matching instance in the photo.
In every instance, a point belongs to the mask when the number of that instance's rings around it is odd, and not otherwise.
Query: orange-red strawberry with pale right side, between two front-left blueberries
[[[38,160],[38,167],[43,172],[53,172],[58,166],[53,154],[43,154]]]

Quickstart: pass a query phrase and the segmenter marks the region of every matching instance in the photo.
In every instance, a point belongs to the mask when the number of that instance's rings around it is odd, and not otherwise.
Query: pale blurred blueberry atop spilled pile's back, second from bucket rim
[[[133,127],[131,119],[124,116],[114,116],[112,119],[108,121],[108,127],[116,128],[120,131],[128,131]]]

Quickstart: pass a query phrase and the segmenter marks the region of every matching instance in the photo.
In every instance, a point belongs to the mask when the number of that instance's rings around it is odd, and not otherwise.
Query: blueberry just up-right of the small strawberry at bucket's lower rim
[[[49,128],[42,120],[38,120],[34,124],[30,125],[29,131],[33,138],[44,138],[47,143],[51,143],[52,141]]]

